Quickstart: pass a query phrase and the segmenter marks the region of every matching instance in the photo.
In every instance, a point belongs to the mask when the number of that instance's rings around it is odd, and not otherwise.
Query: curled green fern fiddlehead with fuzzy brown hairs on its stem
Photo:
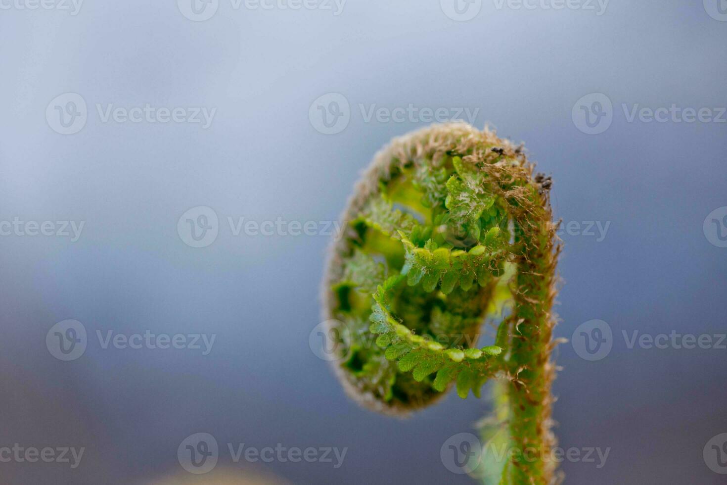
[[[324,316],[341,340],[334,369],[369,409],[408,414],[451,386],[479,397],[497,377],[483,438],[541,457],[500,464],[501,484],[548,484],[554,474],[542,459],[555,441],[560,251],[549,190],[521,147],[488,129],[443,124],[395,139],[356,186],[324,278]],[[478,348],[502,300],[494,345]]]

